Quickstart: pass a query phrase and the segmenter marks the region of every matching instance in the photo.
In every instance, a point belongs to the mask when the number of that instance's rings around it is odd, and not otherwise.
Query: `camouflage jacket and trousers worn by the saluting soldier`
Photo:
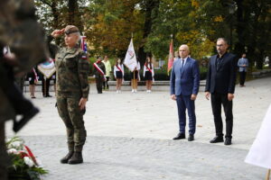
[[[49,41],[51,39],[50,36]],[[89,96],[89,61],[79,46],[68,49],[51,44],[50,51],[55,54],[57,106],[66,126],[68,148],[69,151],[81,152],[87,132],[79,100]]]

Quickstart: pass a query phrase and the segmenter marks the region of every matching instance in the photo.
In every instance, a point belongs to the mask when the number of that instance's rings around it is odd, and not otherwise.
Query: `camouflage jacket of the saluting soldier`
[[[51,40],[50,36],[49,41]],[[87,54],[79,47],[68,49],[53,44],[50,44],[50,51],[55,54],[57,95],[75,93],[88,98],[89,61]]]

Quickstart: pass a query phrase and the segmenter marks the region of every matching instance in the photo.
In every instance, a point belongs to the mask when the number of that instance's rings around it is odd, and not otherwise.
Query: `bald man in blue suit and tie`
[[[173,138],[185,139],[185,124],[187,109],[189,116],[189,138],[194,140],[196,131],[195,100],[199,92],[200,69],[197,61],[188,57],[189,47],[182,45],[179,48],[181,58],[176,58],[171,74],[171,97],[176,100],[179,115],[179,134]]]

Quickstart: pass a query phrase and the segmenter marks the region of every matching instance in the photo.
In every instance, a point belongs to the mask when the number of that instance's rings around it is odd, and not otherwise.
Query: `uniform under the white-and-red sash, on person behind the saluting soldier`
[[[98,60],[96,62],[96,64],[98,65],[98,67],[100,69],[102,69],[102,71],[104,73],[106,73],[106,67],[105,67],[105,64]],[[94,70],[93,70],[93,74],[95,75],[95,79],[96,79],[96,87],[97,87],[97,91],[98,91],[98,94],[102,94],[102,88],[103,88],[103,82],[105,81],[105,76],[103,76],[98,70],[96,67],[94,67]]]

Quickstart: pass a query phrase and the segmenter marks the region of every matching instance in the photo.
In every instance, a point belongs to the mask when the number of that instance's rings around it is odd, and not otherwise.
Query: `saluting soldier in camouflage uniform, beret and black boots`
[[[63,33],[66,47],[50,43]],[[62,164],[83,163],[82,149],[87,136],[83,114],[89,97],[89,61],[79,48],[79,39],[79,29],[74,25],[52,31],[48,37],[50,52],[55,57],[57,108],[68,138],[69,152],[61,158]]]

